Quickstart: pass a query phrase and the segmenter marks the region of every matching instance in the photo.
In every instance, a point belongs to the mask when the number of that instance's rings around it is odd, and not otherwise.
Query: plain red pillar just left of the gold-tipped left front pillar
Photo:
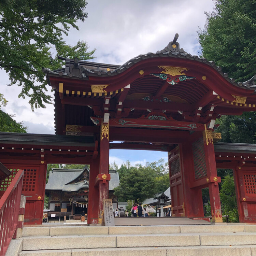
[[[95,180],[99,173],[100,158],[93,159],[90,164],[89,175],[89,195],[88,195],[88,209],[87,209],[87,223],[98,223],[99,212],[99,187],[95,186]]]

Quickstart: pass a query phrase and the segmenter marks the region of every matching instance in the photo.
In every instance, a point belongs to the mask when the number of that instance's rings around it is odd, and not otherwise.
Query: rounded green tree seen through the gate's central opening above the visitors
[[[154,170],[150,167],[129,168],[126,175],[120,178],[120,185],[114,189],[114,194],[119,200],[143,201],[156,193]]]

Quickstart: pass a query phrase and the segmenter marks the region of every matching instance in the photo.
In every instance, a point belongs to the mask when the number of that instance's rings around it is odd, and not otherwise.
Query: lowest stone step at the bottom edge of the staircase
[[[211,255],[256,255],[256,245],[234,246],[186,246],[186,247],[126,247],[126,248],[96,248],[96,249],[66,249],[66,250],[41,250],[22,251],[20,256],[108,256],[108,255],[172,255],[172,256],[211,256]]]

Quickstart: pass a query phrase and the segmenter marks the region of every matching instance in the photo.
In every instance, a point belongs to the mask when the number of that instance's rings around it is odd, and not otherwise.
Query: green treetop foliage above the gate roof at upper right
[[[256,70],[256,1],[216,0],[215,10],[199,30],[202,56],[215,61],[238,82]]]

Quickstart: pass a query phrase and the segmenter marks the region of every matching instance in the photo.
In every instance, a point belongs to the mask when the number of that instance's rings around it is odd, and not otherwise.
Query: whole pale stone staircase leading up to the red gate
[[[20,256],[256,255],[256,225],[23,228]]]

